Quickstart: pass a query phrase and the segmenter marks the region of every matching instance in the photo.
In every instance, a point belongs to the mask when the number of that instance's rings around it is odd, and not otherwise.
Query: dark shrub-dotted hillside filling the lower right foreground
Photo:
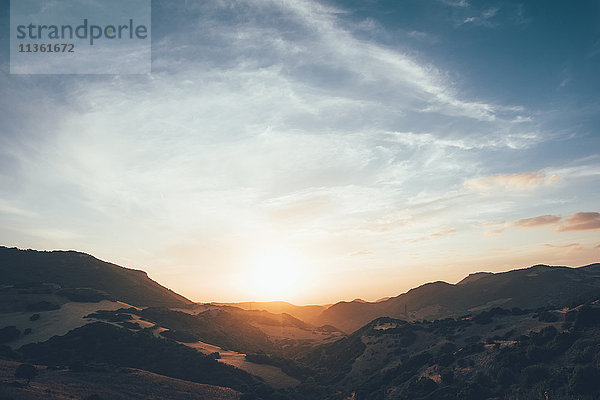
[[[303,362],[315,399],[594,400],[600,300],[436,321],[381,317]]]

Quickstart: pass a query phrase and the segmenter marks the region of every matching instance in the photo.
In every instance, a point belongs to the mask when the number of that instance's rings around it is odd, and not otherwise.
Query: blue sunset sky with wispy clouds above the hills
[[[2,245],[205,302],[600,261],[597,1],[153,1],[140,75],[11,75],[0,5]]]

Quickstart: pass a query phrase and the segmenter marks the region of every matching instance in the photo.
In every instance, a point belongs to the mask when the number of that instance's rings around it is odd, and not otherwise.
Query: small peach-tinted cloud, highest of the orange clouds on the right
[[[523,172],[517,174],[498,174],[469,179],[464,186],[474,191],[531,190],[540,186],[551,185],[560,180],[557,175],[546,175],[544,172]]]

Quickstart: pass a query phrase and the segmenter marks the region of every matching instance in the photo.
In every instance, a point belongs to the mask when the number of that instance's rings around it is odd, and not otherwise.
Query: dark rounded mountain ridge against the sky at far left
[[[192,302],[144,271],[123,268],[76,251],[19,250],[0,246],[0,284],[55,283],[92,288],[135,306],[186,307]]]

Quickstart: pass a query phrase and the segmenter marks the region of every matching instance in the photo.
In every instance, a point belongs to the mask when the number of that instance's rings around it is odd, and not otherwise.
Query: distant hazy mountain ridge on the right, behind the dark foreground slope
[[[317,323],[350,333],[379,317],[437,319],[495,306],[565,306],[598,294],[600,264],[579,268],[535,265],[496,274],[471,274],[456,285],[427,283],[385,301],[340,302],[324,310]]]

